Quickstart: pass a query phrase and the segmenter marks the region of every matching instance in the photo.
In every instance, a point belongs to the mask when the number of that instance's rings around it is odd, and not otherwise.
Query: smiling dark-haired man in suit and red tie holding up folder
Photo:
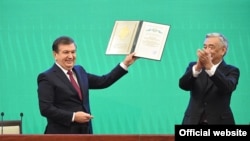
[[[136,57],[131,53],[108,74],[97,76],[75,65],[76,44],[72,38],[57,38],[52,50],[55,64],[37,77],[39,108],[47,118],[45,134],[92,134],[89,89],[112,85],[127,73]]]

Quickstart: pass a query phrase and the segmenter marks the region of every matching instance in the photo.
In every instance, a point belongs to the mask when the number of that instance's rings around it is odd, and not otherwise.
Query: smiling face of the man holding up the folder
[[[58,46],[58,52],[53,52],[56,62],[66,70],[71,70],[76,61],[75,44]]]

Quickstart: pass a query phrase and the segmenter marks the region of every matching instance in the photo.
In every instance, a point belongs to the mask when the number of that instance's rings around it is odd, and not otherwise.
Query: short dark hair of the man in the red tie
[[[74,42],[74,40],[68,36],[61,36],[61,37],[58,37],[54,42],[53,42],[53,45],[52,45],[52,50],[55,51],[55,52],[58,52],[58,46],[59,45],[69,45],[69,44],[72,44]],[[76,45],[75,45],[76,46]]]

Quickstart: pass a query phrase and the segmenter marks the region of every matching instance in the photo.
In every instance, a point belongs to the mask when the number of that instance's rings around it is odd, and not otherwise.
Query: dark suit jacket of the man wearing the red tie
[[[38,75],[39,108],[41,115],[47,118],[48,123],[45,130],[47,134],[70,133],[70,127],[76,124],[72,122],[73,112],[84,111],[91,113],[89,89],[109,87],[127,73],[120,65],[117,65],[111,72],[102,76],[87,73],[79,65],[74,66],[73,71],[81,88],[83,101],[79,99],[77,91],[65,73],[56,64]],[[91,134],[91,122],[87,124],[89,124],[88,128]]]

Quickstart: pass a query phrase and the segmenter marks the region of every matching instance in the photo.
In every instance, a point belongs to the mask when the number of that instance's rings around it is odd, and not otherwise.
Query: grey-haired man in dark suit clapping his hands
[[[179,79],[179,87],[190,91],[182,124],[235,124],[230,101],[240,71],[224,61],[227,50],[222,34],[207,34],[197,62],[191,62]]]

